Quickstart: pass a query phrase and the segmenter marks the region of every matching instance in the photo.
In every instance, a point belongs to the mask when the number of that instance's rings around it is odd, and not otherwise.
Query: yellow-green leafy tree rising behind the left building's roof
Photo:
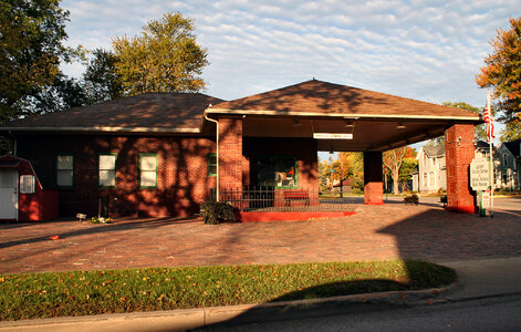
[[[208,65],[207,51],[197,44],[194,21],[179,12],[153,20],[140,35],[113,40],[116,72],[126,95],[146,92],[197,92]]]

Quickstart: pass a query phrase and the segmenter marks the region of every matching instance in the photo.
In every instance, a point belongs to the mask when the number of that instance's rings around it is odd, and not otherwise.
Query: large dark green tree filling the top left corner
[[[69,12],[59,4],[0,0],[0,122],[22,115],[23,101],[53,85],[60,61],[74,55],[62,44]]]

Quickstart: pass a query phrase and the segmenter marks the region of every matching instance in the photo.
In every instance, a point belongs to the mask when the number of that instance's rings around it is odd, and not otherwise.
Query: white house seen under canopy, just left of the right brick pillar
[[[421,146],[416,156],[418,166],[411,172],[413,190],[438,191],[447,188],[445,144]]]

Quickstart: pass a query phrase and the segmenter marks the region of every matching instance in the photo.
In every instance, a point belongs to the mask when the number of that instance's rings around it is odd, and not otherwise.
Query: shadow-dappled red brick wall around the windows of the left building
[[[216,186],[208,176],[211,138],[28,135],[18,138],[18,155],[31,160],[45,189],[56,188],[55,157],[74,154],[74,187],[60,190],[60,215],[97,215],[101,198],[112,215],[188,216],[198,211]],[[97,186],[98,154],[117,153],[116,187]],[[138,187],[138,154],[157,153],[157,188]]]

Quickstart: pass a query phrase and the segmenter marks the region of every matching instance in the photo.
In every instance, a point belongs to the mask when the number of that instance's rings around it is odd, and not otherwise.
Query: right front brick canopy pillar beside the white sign
[[[475,155],[473,125],[457,124],[445,132],[447,158],[447,210],[476,212],[469,166]]]

